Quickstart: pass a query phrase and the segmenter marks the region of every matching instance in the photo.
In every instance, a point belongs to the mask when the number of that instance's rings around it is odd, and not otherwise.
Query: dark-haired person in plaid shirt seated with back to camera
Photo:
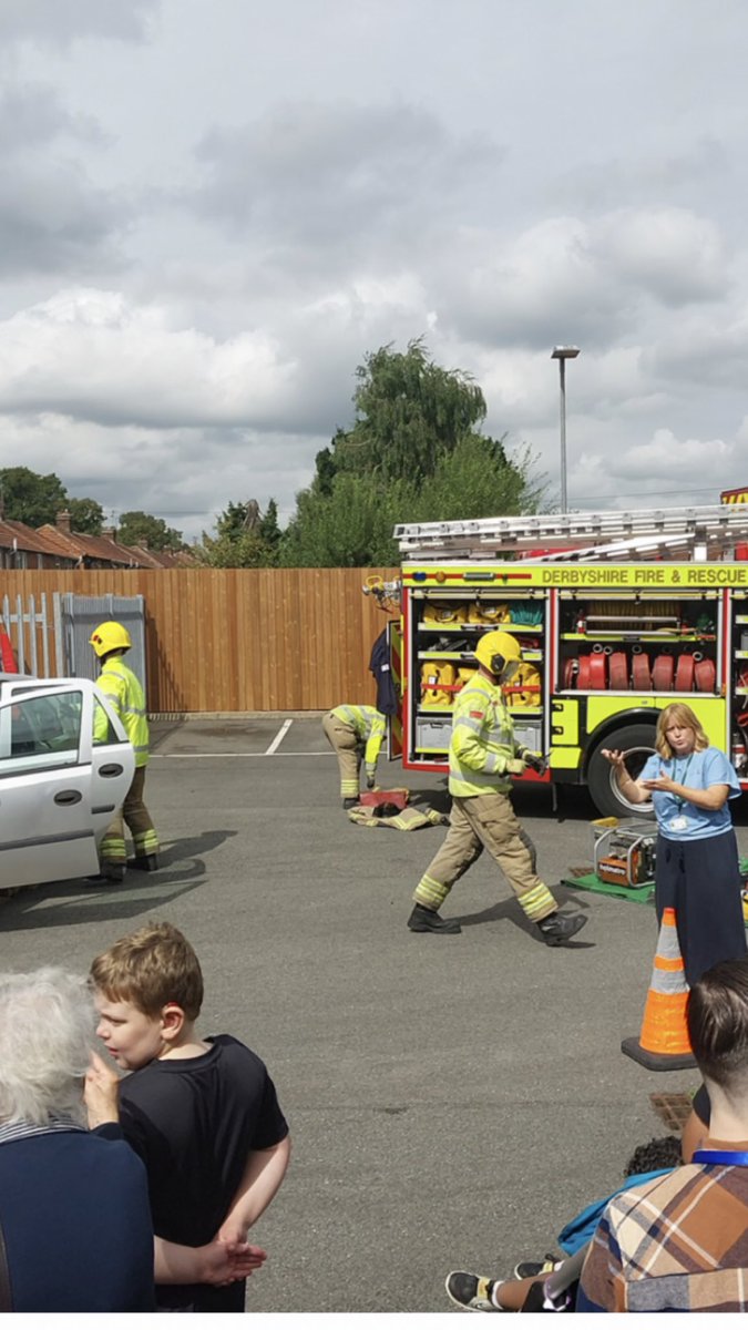
[[[748,1310],[748,960],[701,975],[687,1020],[708,1140],[691,1164],[610,1202],[576,1311]]]

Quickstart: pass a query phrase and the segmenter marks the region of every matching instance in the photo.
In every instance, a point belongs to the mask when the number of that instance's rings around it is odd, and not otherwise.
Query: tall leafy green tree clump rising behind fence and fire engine
[[[317,454],[309,489],[280,543],[286,567],[366,567],[399,561],[393,527],[535,512],[543,483],[527,448],[478,432],[480,388],[462,370],[442,370],[422,339],[391,344],[357,370],[355,420]]]

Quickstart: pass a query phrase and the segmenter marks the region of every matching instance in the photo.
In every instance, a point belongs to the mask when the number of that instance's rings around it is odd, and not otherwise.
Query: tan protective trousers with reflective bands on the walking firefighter
[[[453,798],[450,830],[415,888],[417,904],[439,910],[454,883],[483,850],[496,861],[532,923],[556,910],[554,896],[535,872],[535,847],[522,830],[511,801],[499,791]]]

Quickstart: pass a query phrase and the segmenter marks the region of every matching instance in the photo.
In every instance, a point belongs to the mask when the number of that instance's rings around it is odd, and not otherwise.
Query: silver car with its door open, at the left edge
[[[133,773],[132,743],[91,680],[0,674],[0,888],[97,872]]]

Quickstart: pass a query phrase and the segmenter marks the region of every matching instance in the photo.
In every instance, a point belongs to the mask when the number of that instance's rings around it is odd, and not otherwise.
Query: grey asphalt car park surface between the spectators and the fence
[[[647,1072],[639,1032],[654,908],[583,891],[588,923],[543,946],[484,855],[443,914],[459,936],[410,934],[411,892],[443,830],[350,823],[318,717],[153,728],[146,801],[162,868],[122,887],[60,883],[0,902],[4,964],[93,955],[148,919],[201,959],[201,1031],[268,1063],[293,1137],[289,1174],[254,1229],[266,1246],[248,1309],[447,1311],[450,1269],[506,1275],[555,1250],[562,1225],[667,1133],[652,1092],[695,1072]],[[442,777],[379,766],[446,809]],[[515,807],[548,883],[591,862],[582,790],[520,789]],[[748,853],[745,813],[739,842]]]

